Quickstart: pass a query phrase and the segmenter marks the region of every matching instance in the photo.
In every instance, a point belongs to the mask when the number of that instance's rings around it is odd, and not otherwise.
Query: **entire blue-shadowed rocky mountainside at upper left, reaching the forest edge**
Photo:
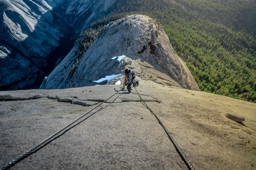
[[[115,0],[0,0],[0,90],[40,85],[73,46],[70,38],[116,5]],[[58,46],[62,53],[53,52]]]

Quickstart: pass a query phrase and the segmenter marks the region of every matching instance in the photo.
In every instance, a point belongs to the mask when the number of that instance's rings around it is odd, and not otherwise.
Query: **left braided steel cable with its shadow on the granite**
[[[125,87],[123,87],[121,90],[123,90]],[[121,90],[117,91],[116,93],[120,92]],[[115,94],[116,94],[115,93]],[[113,94],[111,97],[113,97],[115,94]],[[111,97],[109,97],[107,100],[109,100]],[[106,102],[107,100],[105,100],[104,102]],[[0,168],[0,170],[5,170],[5,169],[9,169],[11,166],[13,166],[14,164],[20,162],[21,160],[23,160],[24,158],[26,158],[27,156],[29,156],[33,150],[37,149],[39,146],[41,146],[42,144],[44,144],[45,142],[47,142],[48,140],[50,140],[52,137],[58,135],[61,131],[63,131],[64,129],[66,129],[67,127],[69,127],[70,125],[72,125],[73,123],[75,123],[77,120],[81,119],[82,117],[84,117],[85,115],[87,115],[88,113],[90,113],[91,111],[93,111],[96,107],[100,106],[101,104],[103,104],[104,102],[101,102],[99,105],[95,106],[94,108],[92,108],[91,110],[89,110],[88,112],[86,112],[85,114],[83,114],[82,116],[80,116],[79,118],[77,118],[76,120],[72,121],[71,123],[69,123],[68,125],[66,125],[65,127],[63,127],[62,129],[60,129],[59,131],[55,132],[54,134],[50,135],[49,137],[47,137],[46,139],[44,139],[43,141],[41,141],[40,143],[38,143],[37,145],[33,146],[32,148],[28,149],[26,152],[24,152],[23,154],[19,155],[18,157],[16,157],[14,160],[12,160],[9,163],[6,163],[4,166],[2,166]]]

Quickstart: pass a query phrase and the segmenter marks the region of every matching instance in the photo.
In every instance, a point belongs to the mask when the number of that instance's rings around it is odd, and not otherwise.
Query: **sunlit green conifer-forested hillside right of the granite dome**
[[[91,27],[131,14],[158,19],[201,91],[256,102],[255,1],[137,0],[123,4]]]

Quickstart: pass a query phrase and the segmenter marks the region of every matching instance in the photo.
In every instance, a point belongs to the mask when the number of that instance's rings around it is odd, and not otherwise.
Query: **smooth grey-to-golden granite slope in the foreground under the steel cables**
[[[255,169],[256,104],[142,79],[140,85],[138,92],[195,169]],[[10,100],[0,102],[0,166],[120,87],[0,92],[1,100]],[[68,99],[93,105],[71,104]],[[187,169],[161,125],[138,99],[134,88],[132,94],[118,92],[111,103],[97,107],[11,169]],[[227,113],[244,116],[245,121],[230,120]]]

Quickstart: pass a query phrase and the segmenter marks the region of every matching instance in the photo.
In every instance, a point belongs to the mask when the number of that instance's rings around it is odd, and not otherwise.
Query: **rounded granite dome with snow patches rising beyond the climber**
[[[77,46],[43,81],[41,89],[112,84],[123,79],[128,68],[142,79],[199,91],[161,25],[148,16],[132,15],[106,25],[79,63],[76,51]]]

